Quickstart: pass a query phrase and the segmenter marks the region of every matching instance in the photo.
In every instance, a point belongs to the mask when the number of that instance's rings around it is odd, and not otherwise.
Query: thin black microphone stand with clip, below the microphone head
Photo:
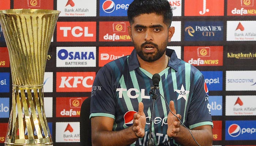
[[[152,92],[152,89],[154,89],[154,93]],[[150,118],[150,129],[149,129],[149,138],[148,138],[147,146],[153,146],[153,144],[154,144],[154,141],[152,139],[152,122],[153,122],[152,117],[153,117],[153,113],[154,113],[154,109],[155,109],[155,100],[157,99],[157,95],[155,94],[156,89],[159,89],[158,85],[151,87],[151,90],[149,92],[149,95],[152,95],[153,104],[152,104],[152,115]]]

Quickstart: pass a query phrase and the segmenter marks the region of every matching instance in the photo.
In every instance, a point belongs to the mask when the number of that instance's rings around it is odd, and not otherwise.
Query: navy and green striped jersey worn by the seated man
[[[135,49],[131,55],[116,59],[103,66],[96,75],[91,92],[91,114],[114,119],[113,131],[128,128],[139,102],[144,104],[146,115],[145,137],[132,146],[147,145],[150,118],[153,117],[152,134],[155,145],[178,145],[167,136],[169,102],[174,101],[181,121],[190,129],[212,125],[208,89],[203,74],[194,66],[177,58],[174,50],[166,49],[170,57],[168,67],[159,73],[159,91],[156,91],[155,110],[149,92],[153,87],[152,74],[140,68]],[[163,97],[161,97],[161,95]],[[165,103],[165,98],[167,104]]]

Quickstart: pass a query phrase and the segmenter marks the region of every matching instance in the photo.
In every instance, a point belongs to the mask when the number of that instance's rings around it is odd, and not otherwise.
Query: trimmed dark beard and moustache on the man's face
[[[139,57],[143,60],[143,61],[147,61],[147,62],[154,62],[154,61],[157,61],[159,58],[161,58],[163,56],[163,54],[165,53],[166,51],[166,46],[167,46],[167,42],[166,41],[165,43],[163,43],[160,48],[158,47],[157,44],[155,43],[152,43],[152,42],[145,42],[143,43],[142,45],[135,45],[134,44],[134,47],[135,47],[135,50],[137,52],[137,54],[139,55]],[[157,52],[152,52],[152,53],[144,53],[142,50],[143,50],[143,47],[145,45],[153,45],[156,49],[157,49]]]

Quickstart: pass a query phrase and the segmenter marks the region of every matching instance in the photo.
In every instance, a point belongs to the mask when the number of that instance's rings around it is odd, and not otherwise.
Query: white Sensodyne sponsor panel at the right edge
[[[256,91],[256,71],[226,71],[226,91]]]

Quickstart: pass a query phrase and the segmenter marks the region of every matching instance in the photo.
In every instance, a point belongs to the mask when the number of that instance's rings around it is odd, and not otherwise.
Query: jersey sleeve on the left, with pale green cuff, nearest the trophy
[[[96,74],[91,91],[90,118],[106,116],[114,119],[115,101],[111,71],[103,66]]]

